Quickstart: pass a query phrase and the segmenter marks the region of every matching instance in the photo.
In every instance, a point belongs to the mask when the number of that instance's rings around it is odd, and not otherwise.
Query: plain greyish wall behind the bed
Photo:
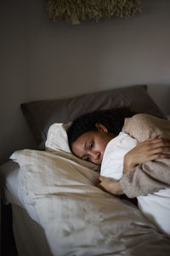
[[[143,0],[143,13],[69,26],[44,19],[42,0],[3,0],[0,160],[33,147],[20,103],[129,84],[170,113],[170,1]]]

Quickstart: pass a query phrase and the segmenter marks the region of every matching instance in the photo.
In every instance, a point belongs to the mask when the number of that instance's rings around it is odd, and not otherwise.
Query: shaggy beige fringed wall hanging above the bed
[[[63,20],[72,25],[87,19],[128,18],[137,12],[141,12],[140,0],[46,0],[48,20]]]

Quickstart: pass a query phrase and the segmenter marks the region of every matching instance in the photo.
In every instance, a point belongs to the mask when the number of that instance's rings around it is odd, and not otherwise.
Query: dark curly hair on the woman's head
[[[97,110],[91,113],[85,113],[72,122],[67,131],[69,146],[77,140],[83,133],[96,131],[96,123],[105,125],[108,132],[118,134],[122,131],[124,119],[132,117],[135,114],[129,108],[112,108],[106,110]]]

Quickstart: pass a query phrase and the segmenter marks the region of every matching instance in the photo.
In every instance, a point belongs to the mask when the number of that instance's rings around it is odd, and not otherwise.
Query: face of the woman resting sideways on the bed
[[[101,165],[105,148],[113,137],[115,136],[102,129],[85,132],[72,143],[72,151],[82,160]]]

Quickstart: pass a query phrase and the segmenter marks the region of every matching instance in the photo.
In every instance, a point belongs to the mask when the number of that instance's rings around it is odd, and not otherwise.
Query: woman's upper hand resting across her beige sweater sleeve
[[[144,162],[164,158],[170,158],[170,140],[151,137],[125,155],[123,173]]]

